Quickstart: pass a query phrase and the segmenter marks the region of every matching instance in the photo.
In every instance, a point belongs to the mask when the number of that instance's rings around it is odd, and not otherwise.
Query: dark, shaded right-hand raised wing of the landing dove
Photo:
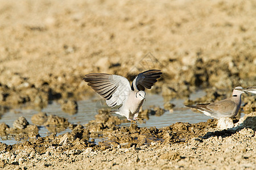
[[[144,91],[145,87],[150,89],[157,82],[156,79],[160,78],[161,74],[160,70],[147,70],[138,74],[133,80],[133,84],[131,84],[131,90]]]

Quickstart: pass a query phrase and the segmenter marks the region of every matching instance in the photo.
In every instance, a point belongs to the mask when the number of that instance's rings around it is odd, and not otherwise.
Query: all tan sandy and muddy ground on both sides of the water
[[[75,113],[76,101],[93,94],[82,81],[92,72],[132,79],[161,69],[147,93],[169,101],[205,89],[207,96],[185,103],[224,99],[236,86],[256,84],[255,16],[255,1],[0,0],[0,115],[51,100]],[[242,108],[252,117],[255,100],[243,95]],[[231,130],[217,130],[216,120],[156,129],[115,126],[121,120],[102,117],[105,112],[83,126],[46,114],[37,117],[42,125],[18,117],[14,127],[1,124],[1,136],[28,139],[1,144],[2,168],[255,168],[255,118]],[[72,133],[56,137],[55,124]],[[39,137],[39,126],[52,135]],[[89,139],[98,131],[108,141]]]

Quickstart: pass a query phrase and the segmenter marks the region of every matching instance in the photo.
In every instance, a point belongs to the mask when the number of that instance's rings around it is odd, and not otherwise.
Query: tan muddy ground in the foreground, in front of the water
[[[117,126],[107,112],[71,133],[30,137],[15,145],[1,143],[4,169],[254,169],[256,112],[235,127],[216,129],[217,120],[177,122],[165,128]],[[8,130],[8,128],[6,128]],[[26,132],[25,132],[26,133]],[[94,138],[104,137],[102,142]]]

